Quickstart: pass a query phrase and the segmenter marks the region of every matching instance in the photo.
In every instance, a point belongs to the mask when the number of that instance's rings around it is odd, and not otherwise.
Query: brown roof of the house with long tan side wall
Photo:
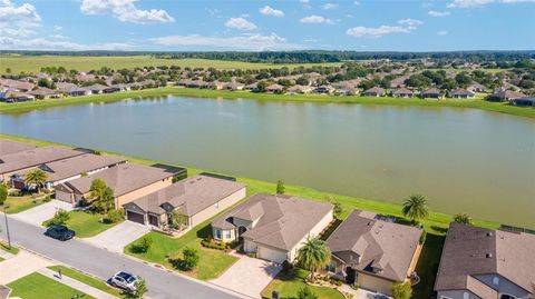
[[[114,190],[115,197],[118,197],[169,177],[173,177],[173,173],[159,168],[123,163],[64,185],[85,195],[89,192],[93,180],[98,178]]]

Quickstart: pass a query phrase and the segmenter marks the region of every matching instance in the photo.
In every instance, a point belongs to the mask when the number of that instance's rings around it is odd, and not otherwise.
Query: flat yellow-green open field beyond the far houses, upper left
[[[216,68],[216,69],[245,69],[256,70],[266,68],[295,68],[299,66],[340,66],[342,63],[313,63],[313,64],[273,64],[251,63],[241,61],[207,60],[207,59],[156,59],[149,56],[124,56],[124,57],[76,57],[76,56],[0,56],[0,74],[10,68],[11,73],[33,72],[38,73],[42,67],[64,67],[67,70],[90,71],[107,67],[111,69],[133,69],[136,67],[177,66],[189,68]]]

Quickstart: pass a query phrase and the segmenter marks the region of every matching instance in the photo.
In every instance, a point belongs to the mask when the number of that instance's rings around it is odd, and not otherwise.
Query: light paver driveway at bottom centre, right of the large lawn
[[[262,290],[281,269],[280,265],[243,256],[221,277],[211,282],[252,298],[261,298]]]

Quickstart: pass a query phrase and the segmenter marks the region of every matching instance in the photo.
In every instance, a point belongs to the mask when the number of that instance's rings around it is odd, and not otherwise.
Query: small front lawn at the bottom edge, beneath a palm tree
[[[307,277],[308,271],[302,269],[295,270],[298,273],[292,279],[285,279],[282,277],[275,277],[273,281],[265,287],[262,291],[262,298],[272,298],[271,295],[273,290],[279,291],[279,298],[281,299],[293,299],[296,298],[298,291],[305,287],[303,278]],[[337,289],[331,289],[327,287],[312,287],[308,286],[312,291],[318,296],[319,299],[343,299],[343,295]]]

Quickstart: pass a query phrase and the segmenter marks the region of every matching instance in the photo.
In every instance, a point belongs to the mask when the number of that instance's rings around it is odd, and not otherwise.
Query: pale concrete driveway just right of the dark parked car
[[[113,252],[123,253],[125,246],[139,239],[149,230],[147,226],[126,220],[95,237],[86,238],[84,241]]]

